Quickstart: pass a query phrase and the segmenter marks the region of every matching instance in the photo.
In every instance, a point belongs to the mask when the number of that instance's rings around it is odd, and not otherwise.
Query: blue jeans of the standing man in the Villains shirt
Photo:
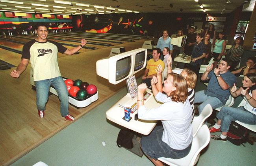
[[[67,116],[69,114],[69,93],[61,76],[46,80],[35,81],[35,87],[37,92],[37,109],[45,110],[45,104],[48,100],[50,85],[54,86],[56,92],[58,93],[60,100],[61,116]]]

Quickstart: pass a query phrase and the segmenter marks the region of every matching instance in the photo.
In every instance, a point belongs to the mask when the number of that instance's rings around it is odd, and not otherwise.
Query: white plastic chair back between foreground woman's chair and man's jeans
[[[200,115],[198,117],[194,117],[193,122],[192,122],[192,131],[193,131],[193,137],[197,134],[198,130],[200,127],[204,124],[204,121],[210,117],[212,113],[212,108],[210,104],[207,104]]]

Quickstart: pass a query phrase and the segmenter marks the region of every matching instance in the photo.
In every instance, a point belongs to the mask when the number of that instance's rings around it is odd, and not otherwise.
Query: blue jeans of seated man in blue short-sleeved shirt
[[[199,115],[207,104],[210,104],[213,109],[224,105],[217,97],[211,97],[205,93],[206,91],[198,91],[195,93],[194,103],[202,103],[198,106]]]

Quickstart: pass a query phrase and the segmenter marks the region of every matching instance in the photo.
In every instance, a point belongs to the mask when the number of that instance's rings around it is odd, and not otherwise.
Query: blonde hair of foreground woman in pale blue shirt
[[[167,79],[170,79],[176,87],[176,90],[170,95],[171,100],[184,103],[187,100],[188,95],[186,79],[182,75],[176,73],[169,73]]]

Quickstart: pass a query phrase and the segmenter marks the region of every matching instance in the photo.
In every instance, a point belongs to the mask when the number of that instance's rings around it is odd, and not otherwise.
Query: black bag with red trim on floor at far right
[[[241,126],[237,122],[232,121],[227,133],[227,140],[232,144],[241,145],[248,141],[249,132],[247,128]]]

